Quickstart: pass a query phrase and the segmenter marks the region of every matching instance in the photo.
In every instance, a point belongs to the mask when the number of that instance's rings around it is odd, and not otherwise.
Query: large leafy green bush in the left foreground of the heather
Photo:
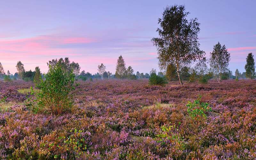
[[[75,90],[75,75],[64,73],[60,66],[50,68],[45,75],[45,81],[38,85],[41,89],[36,94],[38,106],[47,113],[55,115],[70,110],[73,107],[73,96]]]

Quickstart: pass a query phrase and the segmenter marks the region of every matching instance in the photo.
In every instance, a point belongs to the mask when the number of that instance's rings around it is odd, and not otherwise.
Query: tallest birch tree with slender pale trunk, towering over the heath
[[[163,17],[158,20],[161,28],[157,28],[159,38],[152,38],[157,48],[160,69],[166,70],[169,64],[175,66],[176,74],[182,83],[180,71],[190,67],[192,62],[204,57],[199,49],[198,33],[200,31],[197,18],[187,20],[189,12],[184,5],[167,6]]]

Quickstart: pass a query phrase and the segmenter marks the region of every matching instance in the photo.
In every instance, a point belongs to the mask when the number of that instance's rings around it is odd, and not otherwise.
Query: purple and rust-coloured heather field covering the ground
[[[30,82],[0,81],[1,159],[255,159],[256,81],[79,81],[58,116]]]

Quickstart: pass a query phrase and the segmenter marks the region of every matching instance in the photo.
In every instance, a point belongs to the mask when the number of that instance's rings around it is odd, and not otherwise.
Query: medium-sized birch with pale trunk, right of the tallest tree
[[[230,60],[230,53],[226,46],[221,46],[220,42],[213,46],[211,52],[210,67],[211,70],[219,76],[218,82],[221,82],[223,72],[228,71],[228,64]]]

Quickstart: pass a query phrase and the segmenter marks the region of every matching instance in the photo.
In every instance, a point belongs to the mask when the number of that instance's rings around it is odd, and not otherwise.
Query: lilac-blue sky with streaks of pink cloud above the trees
[[[213,45],[225,44],[230,70],[242,73],[246,56],[256,58],[255,0],[73,0],[0,1],[0,62],[5,72],[16,72],[17,61],[26,70],[69,57],[81,71],[97,72],[100,63],[115,73],[123,56],[126,67],[146,73],[158,60],[151,38],[157,37],[158,18],[167,5],[184,4],[188,18],[198,18],[200,49],[209,58]]]

